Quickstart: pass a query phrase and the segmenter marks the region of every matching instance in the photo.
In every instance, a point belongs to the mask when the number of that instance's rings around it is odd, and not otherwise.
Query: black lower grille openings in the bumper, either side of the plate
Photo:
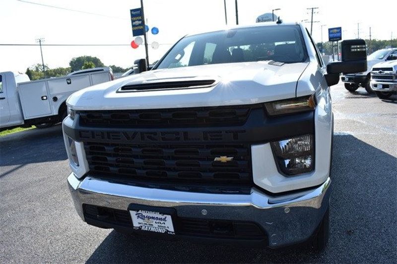
[[[83,205],[84,217],[107,224],[132,228],[132,219],[127,210],[116,210],[93,205]],[[212,220],[175,217],[174,228],[177,235],[264,239],[265,232],[258,224],[248,221]]]

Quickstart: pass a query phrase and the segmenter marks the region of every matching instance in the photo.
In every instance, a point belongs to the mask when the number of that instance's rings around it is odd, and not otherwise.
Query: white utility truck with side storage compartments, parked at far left
[[[66,99],[75,91],[113,80],[109,67],[86,69],[65,77],[30,81],[26,74],[0,72],[0,130],[49,127],[66,117]]]

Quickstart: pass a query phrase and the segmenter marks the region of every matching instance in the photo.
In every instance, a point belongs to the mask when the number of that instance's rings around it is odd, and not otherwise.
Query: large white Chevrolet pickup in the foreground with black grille
[[[364,40],[341,45],[326,66],[300,23],[238,26],[74,93],[63,132],[76,211],[122,232],[323,249],[330,86],[367,70]]]

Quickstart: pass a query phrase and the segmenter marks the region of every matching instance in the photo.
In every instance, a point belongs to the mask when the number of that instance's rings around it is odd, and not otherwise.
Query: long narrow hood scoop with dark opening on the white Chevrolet
[[[133,81],[121,87],[118,92],[142,92],[176,89],[206,88],[217,83],[214,79],[174,78],[155,79],[147,81]]]

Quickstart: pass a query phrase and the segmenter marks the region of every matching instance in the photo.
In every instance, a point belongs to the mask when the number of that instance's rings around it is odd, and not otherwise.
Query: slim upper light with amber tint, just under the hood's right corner
[[[312,111],[316,107],[314,95],[265,103],[269,115]]]

